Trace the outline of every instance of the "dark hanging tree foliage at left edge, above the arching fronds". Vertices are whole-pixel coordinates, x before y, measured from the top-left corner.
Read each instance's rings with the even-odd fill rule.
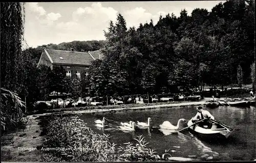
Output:
[[[24,90],[23,3],[1,3],[1,87],[15,93]]]

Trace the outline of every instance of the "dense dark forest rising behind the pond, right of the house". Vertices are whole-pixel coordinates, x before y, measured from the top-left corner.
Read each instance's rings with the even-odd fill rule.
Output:
[[[160,16],[156,25],[126,28],[121,14],[105,31],[105,59],[90,83],[98,94],[189,91],[203,85],[251,84],[254,1],[226,1],[211,11]]]

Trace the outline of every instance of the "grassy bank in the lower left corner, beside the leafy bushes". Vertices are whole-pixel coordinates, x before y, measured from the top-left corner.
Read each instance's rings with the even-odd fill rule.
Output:
[[[28,117],[27,127],[24,130],[5,133],[1,137],[1,161],[32,162],[41,161],[41,151],[44,136],[41,135],[40,120],[38,117]],[[37,150],[19,150],[18,148],[36,148]]]

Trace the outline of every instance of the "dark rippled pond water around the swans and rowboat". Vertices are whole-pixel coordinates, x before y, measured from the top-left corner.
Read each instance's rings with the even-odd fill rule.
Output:
[[[164,121],[177,125],[180,118],[186,122],[181,123],[180,128],[186,127],[186,123],[195,116],[196,106],[180,106],[171,108],[158,108],[154,110],[136,110],[116,112],[114,114],[83,114],[81,119],[98,133],[111,135],[111,141],[116,144],[133,142],[134,138],[143,135],[149,143],[147,147],[154,148],[161,154],[166,149],[176,157],[191,157],[196,160],[254,160],[255,159],[255,107],[231,107],[219,106],[218,108],[205,108],[216,120],[240,130],[233,132],[225,142],[207,142],[200,140],[188,130],[182,133],[164,134],[158,129],[140,129],[135,131],[123,131],[120,122],[147,122],[152,119],[151,126],[159,126]],[[95,126],[94,120],[105,117],[104,130]]]

